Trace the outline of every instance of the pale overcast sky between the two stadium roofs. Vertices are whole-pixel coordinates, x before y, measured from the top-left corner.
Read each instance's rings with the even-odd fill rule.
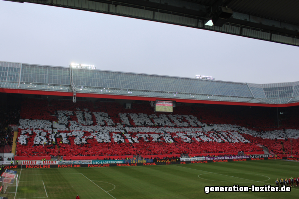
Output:
[[[0,0],[0,61],[216,80],[299,81],[299,47],[68,8]]]

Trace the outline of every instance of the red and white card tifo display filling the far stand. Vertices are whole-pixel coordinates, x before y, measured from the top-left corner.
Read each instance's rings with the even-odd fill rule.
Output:
[[[164,103],[164,102],[163,102]],[[156,104],[157,105],[157,104]],[[172,106],[171,106],[172,107]],[[206,109],[206,110],[205,110]],[[25,100],[21,106],[17,156],[121,156],[144,158],[199,156],[205,153],[237,155],[260,154],[262,144],[270,152],[298,153],[298,125],[265,128],[270,123],[249,115],[235,119],[234,110],[220,117],[225,109],[177,106],[173,113],[153,112],[148,104],[133,104],[125,109],[112,102]],[[258,117],[264,117],[261,112]],[[256,128],[250,124],[254,122]],[[271,126],[271,125],[269,125]]]

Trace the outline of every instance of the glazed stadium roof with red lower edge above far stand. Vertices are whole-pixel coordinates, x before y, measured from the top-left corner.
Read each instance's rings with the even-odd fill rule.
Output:
[[[236,83],[0,62],[0,92],[255,106],[299,104],[299,81]]]

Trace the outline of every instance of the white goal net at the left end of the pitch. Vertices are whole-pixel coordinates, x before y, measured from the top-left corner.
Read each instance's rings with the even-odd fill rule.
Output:
[[[19,185],[19,174],[3,172],[1,176],[4,193],[15,193]]]

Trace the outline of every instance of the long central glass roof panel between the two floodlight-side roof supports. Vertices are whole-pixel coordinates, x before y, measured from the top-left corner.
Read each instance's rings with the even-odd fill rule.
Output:
[[[122,81],[119,81],[119,79],[122,79]],[[73,81],[76,86],[93,85],[99,88],[108,87],[113,89],[252,97],[245,83],[199,80],[195,78],[177,78],[74,68]]]

